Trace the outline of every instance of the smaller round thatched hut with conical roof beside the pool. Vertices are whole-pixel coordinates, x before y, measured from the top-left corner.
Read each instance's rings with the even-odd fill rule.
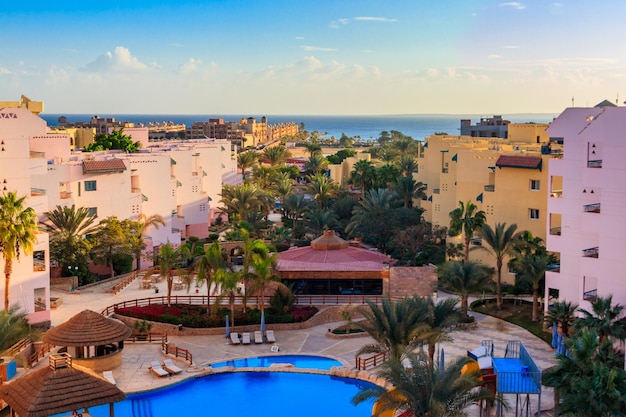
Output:
[[[103,356],[108,351],[98,352],[89,347],[112,345],[114,351],[121,351],[124,340],[132,334],[132,329],[124,323],[109,319],[91,310],[83,310],[68,321],[43,335],[43,341],[55,346],[73,347],[75,359]]]

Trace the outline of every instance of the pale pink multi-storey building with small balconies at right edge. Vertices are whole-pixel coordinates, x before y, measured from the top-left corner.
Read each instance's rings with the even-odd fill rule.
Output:
[[[563,159],[549,162],[546,243],[561,262],[546,273],[546,299],[589,309],[612,294],[626,305],[626,107],[568,108],[548,133]]]

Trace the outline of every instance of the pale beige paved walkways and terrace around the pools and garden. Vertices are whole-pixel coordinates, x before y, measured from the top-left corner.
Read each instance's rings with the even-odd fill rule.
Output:
[[[96,312],[102,311],[105,307],[123,300],[145,298],[154,296],[153,290],[139,288],[139,283],[134,282],[117,295],[106,293],[106,289],[113,284],[100,284],[86,289],[81,289],[79,293],[71,294],[60,289],[52,289],[52,296],[63,298],[63,304],[56,310],[52,310],[52,324],[58,325],[71,318],[80,311],[89,308]],[[159,295],[165,293],[166,284],[158,284]],[[201,289],[201,291],[203,291]],[[173,291],[173,294],[184,295],[186,290]],[[446,297],[440,292],[440,297]],[[475,328],[467,331],[454,332],[451,336],[453,341],[442,344],[445,351],[446,362],[452,361],[460,356],[465,356],[467,350],[473,350],[481,345],[484,339],[493,340],[495,357],[503,357],[506,343],[509,340],[520,340],[529,350],[535,362],[541,369],[553,366],[556,361],[554,352],[549,345],[541,339],[535,337],[519,326],[473,313],[476,317]],[[327,323],[304,330],[277,331],[277,344],[280,346],[280,353],[283,354],[317,354],[329,356],[340,360],[347,367],[354,367],[356,351],[366,343],[373,340],[367,336],[349,339],[334,339],[326,336],[328,329],[338,326],[341,323]],[[270,326],[271,327],[271,326]],[[198,371],[204,369],[204,365],[236,359],[241,357],[251,357],[259,355],[269,355],[270,345],[254,344],[250,345],[230,345],[223,335],[220,336],[185,336],[184,331],[180,336],[170,336],[170,343],[188,349],[193,354],[194,365],[189,366],[185,362],[177,360],[178,366],[185,369],[182,374],[166,378],[158,378],[149,371],[149,364],[152,360],[162,360],[165,358],[160,351],[158,344],[132,344],[126,343],[123,352],[123,365],[113,371],[114,377],[120,389],[126,392],[136,392],[158,388],[173,382],[198,375]],[[375,370],[373,371],[375,372]],[[537,396],[531,396],[531,408],[536,411]],[[515,405],[515,398],[509,398],[512,406]],[[550,408],[552,405],[552,392],[548,388],[542,391],[542,409]],[[513,409],[513,412],[515,409]]]

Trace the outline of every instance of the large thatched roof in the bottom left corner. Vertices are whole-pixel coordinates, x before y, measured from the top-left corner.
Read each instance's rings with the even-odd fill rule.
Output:
[[[0,386],[0,399],[11,407],[11,415],[45,417],[68,411],[109,404],[126,398],[115,385],[72,367],[68,354],[50,355],[50,366]]]

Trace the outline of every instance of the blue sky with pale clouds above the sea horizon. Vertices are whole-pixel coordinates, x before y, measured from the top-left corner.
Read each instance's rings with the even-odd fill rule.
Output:
[[[626,100],[623,0],[7,1],[46,113],[512,114]]]

